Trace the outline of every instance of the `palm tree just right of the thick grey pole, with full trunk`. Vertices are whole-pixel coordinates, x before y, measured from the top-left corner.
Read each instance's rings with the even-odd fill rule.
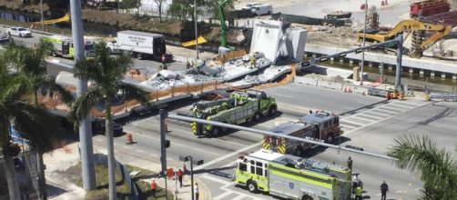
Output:
[[[117,97],[119,91],[126,95],[127,100],[133,98],[141,102],[147,102],[146,92],[134,85],[127,85],[121,82],[131,64],[130,56],[110,56],[107,44],[100,43],[94,46],[94,58],[86,59],[76,64],[74,69],[76,77],[85,78],[93,83],[85,94],[76,99],[70,108],[69,116],[75,122],[75,125],[79,125],[79,122],[87,117],[94,106],[99,103],[105,105],[109,199],[111,200],[116,199],[111,102]]]

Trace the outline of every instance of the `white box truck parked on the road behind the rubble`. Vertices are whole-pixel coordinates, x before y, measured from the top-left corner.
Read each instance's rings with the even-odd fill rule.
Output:
[[[167,54],[165,35],[138,31],[119,31],[117,39],[108,43],[112,53],[130,52],[138,59],[152,58],[169,62],[173,55]]]

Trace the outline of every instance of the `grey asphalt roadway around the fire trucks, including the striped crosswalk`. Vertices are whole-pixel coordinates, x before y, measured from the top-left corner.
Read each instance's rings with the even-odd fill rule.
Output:
[[[3,30],[2,30],[3,31]],[[36,37],[17,39],[33,44]],[[59,62],[71,62],[56,58]],[[137,61],[138,67],[150,67],[154,70],[159,65],[153,61]],[[177,69],[184,67],[177,63]],[[52,68],[52,67],[51,67]],[[157,67],[156,67],[157,68]],[[52,68],[53,72],[60,69]],[[435,103],[425,105],[422,102],[383,102],[384,99],[372,96],[345,94],[340,91],[323,89],[307,85],[284,85],[278,88],[266,89],[274,96],[279,105],[279,115],[269,117],[251,127],[268,130],[273,125],[297,119],[310,109],[323,109],[341,115],[341,125],[345,134],[342,145],[355,145],[365,151],[384,154],[393,138],[400,135],[429,135],[440,146],[453,151],[455,155],[455,128],[453,122],[457,107],[453,103]],[[181,101],[168,107],[170,112],[187,110],[191,102]],[[374,105],[373,105],[374,104]],[[370,106],[371,105],[371,106]],[[366,107],[369,106],[369,107]],[[359,109],[364,107],[362,109]],[[354,111],[355,110],[355,111]],[[347,113],[349,111],[354,111]],[[127,133],[134,134],[135,145],[125,145],[124,137],[115,139],[117,155],[132,155],[159,163],[159,133],[157,113],[147,118],[137,120],[124,126]],[[249,194],[246,190],[235,187],[228,178],[220,175],[208,175],[217,171],[233,175],[233,165],[237,157],[249,154],[259,149],[262,135],[237,131],[216,138],[197,138],[190,133],[188,123],[168,120],[168,139],[171,147],[168,151],[168,165],[182,166],[178,161],[179,155],[192,155],[196,159],[204,159],[204,165],[197,166],[197,173],[211,190],[214,199],[271,199],[269,195]],[[102,135],[94,137],[95,145],[105,145]],[[374,158],[367,155],[356,155],[338,152],[333,149],[317,149],[309,154],[310,157],[325,162],[335,162],[345,165],[348,156],[354,160],[354,171],[361,173],[365,193],[368,198],[378,198],[379,185],[386,180],[391,187],[389,198],[414,199],[421,183],[409,172],[401,171],[392,165],[391,161]]]

